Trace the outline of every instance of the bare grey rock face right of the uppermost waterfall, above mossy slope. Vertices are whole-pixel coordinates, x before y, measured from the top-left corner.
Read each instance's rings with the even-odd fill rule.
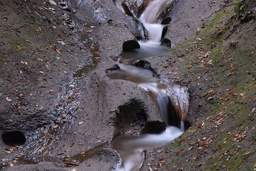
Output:
[[[193,0],[175,1],[172,9],[167,13],[172,21],[165,37],[170,39],[173,45],[177,45],[195,36],[203,21],[207,20],[214,11],[218,11],[222,5],[224,5],[223,1],[215,3],[201,1],[196,5]]]

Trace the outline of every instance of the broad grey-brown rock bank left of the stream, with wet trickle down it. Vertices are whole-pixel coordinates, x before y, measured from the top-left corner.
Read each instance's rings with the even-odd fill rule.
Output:
[[[110,80],[104,73],[115,65],[111,59],[123,53],[123,42],[135,40],[114,3],[71,1],[67,3],[69,10],[61,5],[54,15],[40,7],[53,6],[42,1],[0,5],[1,15],[7,16],[0,19],[0,28],[9,30],[0,35],[0,134],[7,140],[0,141],[0,156],[6,158],[1,160],[2,168],[20,154],[29,159],[36,156],[38,161],[44,161],[42,155],[62,160],[112,140],[120,133],[113,111],[132,99],[143,103],[147,121],[161,119],[146,92],[134,83]],[[26,14],[28,9],[37,11],[31,14],[33,18]],[[11,131],[22,135],[18,141],[13,141],[17,134],[9,134]],[[20,145],[11,148],[11,154],[4,150],[9,138],[13,145]],[[106,159],[92,157],[90,161],[97,164],[101,158]],[[115,162],[106,160],[100,169],[110,169]],[[40,170],[42,165],[24,165],[24,170],[37,166]],[[47,167],[45,164],[42,170]],[[90,167],[86,165],[86,169]]]

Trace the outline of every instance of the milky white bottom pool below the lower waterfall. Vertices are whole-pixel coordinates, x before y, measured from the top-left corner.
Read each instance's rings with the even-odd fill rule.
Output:
[[[183,131],[177,127],[166,127],[161,134],[148,134],[140,136],[124,135],[113,141],[114,149],[121,156],[123,166],[121,171],[139,171],[145,158],[145,150],[179,137]]]

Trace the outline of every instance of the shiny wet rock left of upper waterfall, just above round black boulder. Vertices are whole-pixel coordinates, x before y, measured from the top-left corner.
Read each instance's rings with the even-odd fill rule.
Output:
[[[137,38],[137,40],[147,40],[148,39],[148,31],[146,30],[143,23],[139,20],[131,17],[127,17],[127,28],[131,31],[131,33]]]

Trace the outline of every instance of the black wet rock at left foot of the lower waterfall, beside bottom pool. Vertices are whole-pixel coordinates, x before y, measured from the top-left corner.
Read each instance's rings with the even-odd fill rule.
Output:
[[[147,122],[141,130],[141,134],[160,134],[166,129],[166,124],[160,121]]]

